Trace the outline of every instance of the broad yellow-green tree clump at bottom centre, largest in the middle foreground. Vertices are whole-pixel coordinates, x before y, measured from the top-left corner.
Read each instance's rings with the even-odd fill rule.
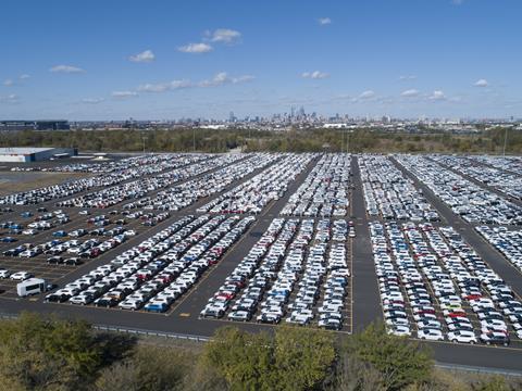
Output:
[[[225,327],[206,346],[200,365],[215,368],[231,390],[310,390],[334,358],[333,335],[323,330],[282,326],[271,337]]]

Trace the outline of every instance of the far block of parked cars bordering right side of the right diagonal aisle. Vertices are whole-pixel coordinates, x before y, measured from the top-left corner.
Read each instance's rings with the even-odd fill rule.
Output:
[[[522,224],[520,206],[472,184],[435,161],[420,155],[397,155],[396,159],[465,222]]]

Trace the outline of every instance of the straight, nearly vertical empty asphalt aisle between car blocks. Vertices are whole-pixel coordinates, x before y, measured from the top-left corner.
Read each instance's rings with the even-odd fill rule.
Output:
[[[357,231],[352,242],[353,331],[362,330],[372,321],[383,318],[358,159],[359,156],[353,157],[351,162],[355,185],[351,197],[352,218]]]

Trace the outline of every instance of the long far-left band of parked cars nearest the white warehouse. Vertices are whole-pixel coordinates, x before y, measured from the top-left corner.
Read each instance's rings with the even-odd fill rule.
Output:
[[[105,190],[114,185],[130,180],[133,178],[145,178],[153,176],[163,171],[174,169],[183,167],[199,161],[206,161],[211,155],[207,154],[165,154],[161,155],[161,164],[158,164],[157,155],[142,156],[141,165],[132,164],[124,165],[125,168],[101,173],[88,178],[67,180],[59,185],[47,186],[28,191],[8,194],[0,198],[0,205],[2,204],[38,204],[41,202],[63,199],[71,197],[83,191],[87,191],[94,188],[99,190]],[[95,192],[96,193],[96,192]],[[64,204],[64,206],[72,206]]]

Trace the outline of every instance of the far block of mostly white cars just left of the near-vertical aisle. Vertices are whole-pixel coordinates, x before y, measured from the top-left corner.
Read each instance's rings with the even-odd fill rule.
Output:
[[[281,211],[285,216],[344,217],[349,209],[351,159],[348,154],[323,155]]]

